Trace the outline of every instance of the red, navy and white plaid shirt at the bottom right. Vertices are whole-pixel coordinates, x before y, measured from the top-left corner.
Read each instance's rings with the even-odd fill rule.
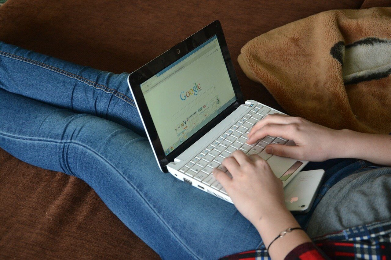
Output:
[[[315,246],[315,244],[316,246]],[[347,228],[293,249],[285,259],[391,259],[391,221]],[[266,249],[225,256],[230,260],[270,259]]]

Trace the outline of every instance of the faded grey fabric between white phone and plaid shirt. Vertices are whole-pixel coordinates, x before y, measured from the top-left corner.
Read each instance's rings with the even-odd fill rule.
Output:
[[[355,173],[331,187],[317,205],[307,234],[319,237],[391,219],[391,167]]]

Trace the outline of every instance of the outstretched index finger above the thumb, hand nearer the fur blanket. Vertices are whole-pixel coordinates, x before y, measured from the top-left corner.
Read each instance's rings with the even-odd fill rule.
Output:
[[[258,129],[249,139],[247,140],[248,144],[253,144],[259,139],[264,138],[266,135],[270,136],[280,136],[285,139],[294,138],[294,127],[291,124],[289,125],[276,125],[269,124],[265,125],[262,128]]]

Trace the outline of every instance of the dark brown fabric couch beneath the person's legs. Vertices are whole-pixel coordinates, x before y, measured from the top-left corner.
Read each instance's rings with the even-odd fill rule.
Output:
[[[131,72],[218,19],[245,98],[279,108],[237,64],[247,41],[317,12],[385,5],[389,0],[8,0],[0,7],[0,41],[97,69]],[[0,258],[11,257],[159,256],[86,183],[0,149]]]

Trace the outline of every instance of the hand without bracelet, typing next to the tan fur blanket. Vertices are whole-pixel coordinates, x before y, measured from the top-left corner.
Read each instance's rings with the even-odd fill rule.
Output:
[[[343,145],[339,130],[311,123],[303,118],[282,114],[267,115],[256,123],[248,134],[248,144],[266,135],[280,136],[295,142],[296,146],[269,144],[266,152],[298,160],[321,162],[335,158],[335,151]],[[338,138],[337,138],[338,137]]]

